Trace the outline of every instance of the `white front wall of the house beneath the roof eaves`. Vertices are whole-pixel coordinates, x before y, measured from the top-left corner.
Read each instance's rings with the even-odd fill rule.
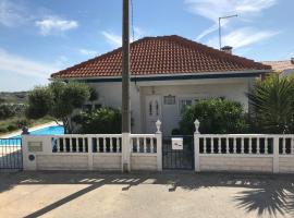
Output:
[[[183,80],[131,83],[131,104],[133,133],[146,133],[146,96],[161,97],[162,130],[164,135],[170,135],[172,129],[177,128],[180,121],[179,99],[185,97],[225,97],[243,104],[248,109],[248,99],[245,93],[255,78],[210,78],[210,80]],[[90,83],[99,94],[99,102],[103,106],[121,108],[121,83]],[[163,96],[175,96],[175,105],[163,104]]]

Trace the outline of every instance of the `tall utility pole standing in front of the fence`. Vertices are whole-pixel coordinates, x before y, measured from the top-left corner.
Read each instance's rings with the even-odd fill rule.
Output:
[[[122,22],[122,171],[130,171],[130,0],[123,0]]]

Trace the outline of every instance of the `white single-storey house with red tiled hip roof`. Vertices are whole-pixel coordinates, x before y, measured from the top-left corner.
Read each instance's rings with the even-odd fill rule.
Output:
[[[225,97],[248,109],[245,95],[253,81],[271,66],[233,56],[180,36],[145,37],[131,44],[133,133],[164,135],[177,128],[181,112],[198,98]],[[121,107],[122,49],[115,49],[51,75],[53,80],[88,83],[99,94],[96,104]]]

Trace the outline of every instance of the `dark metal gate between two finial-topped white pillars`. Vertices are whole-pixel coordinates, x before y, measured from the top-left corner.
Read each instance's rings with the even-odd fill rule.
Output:
[[[194,170],[194,137],[174,136],[183,138],[183,149],[172,149],[172,137],[163,137],[162,168],[169,170]]]

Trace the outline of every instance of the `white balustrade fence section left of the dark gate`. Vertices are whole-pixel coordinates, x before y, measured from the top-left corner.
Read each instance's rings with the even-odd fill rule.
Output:
[[[24,135],[25,170],[162,170],[156,134]]]

